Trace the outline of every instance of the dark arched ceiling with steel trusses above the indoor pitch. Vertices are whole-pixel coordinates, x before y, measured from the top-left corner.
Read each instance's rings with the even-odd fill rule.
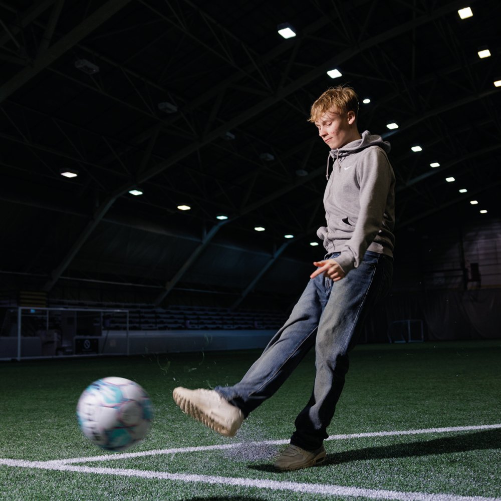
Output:
[[[4,289],[288,292],[322,255],[307,118],[338,84],[392,144],[397,237],[499,216],[500,28],[499,0],[0,0]]]

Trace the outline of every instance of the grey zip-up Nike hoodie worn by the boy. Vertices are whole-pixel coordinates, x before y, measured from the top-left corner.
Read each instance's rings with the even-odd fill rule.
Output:
[[[389,151],[390,143],[366,130],[362,139],[329,153],[327,226],[317,235],[329,254],[341,253],[336,262],[345,273],[360,265],[366,250],[393,256],[395,174],[386,156]]]

